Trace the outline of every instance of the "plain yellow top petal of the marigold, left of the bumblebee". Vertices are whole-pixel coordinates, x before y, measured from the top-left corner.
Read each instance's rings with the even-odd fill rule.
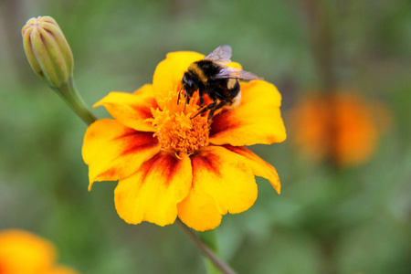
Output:
[[[188,66],[204,58],[204,55],[192,51],[177,51],[167,54],[166,58],[157,65],[153,76],[154,96],[163,109],[163,99],[170,92],[180,89],[181,80]]]

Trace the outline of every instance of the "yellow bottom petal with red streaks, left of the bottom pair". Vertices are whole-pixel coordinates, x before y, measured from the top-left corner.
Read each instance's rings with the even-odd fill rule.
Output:
[[[173,224],[177,204],[188,195],[192,178],[187,155],[177,159],[171,153],[157,153],[136,174],[119,182],[114,191],[117,213],[129,224]]]

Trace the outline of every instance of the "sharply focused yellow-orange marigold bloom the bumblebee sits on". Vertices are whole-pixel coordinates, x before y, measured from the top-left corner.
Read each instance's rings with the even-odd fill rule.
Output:
[[[254,175],[279,192],[274,167],[244,145],[286,139],[280,94],[264,80],[242,82],[241,104],[208,123],[194,119],[195,95],[177,104],[181,79],[203,55],[174,52],[157,66],[153,85],[133,94],[111,92],[95,104],[112,119],[95,121],[82,148],[90,186],[120,180],[114,191],[117,212],[130,224],[173,224],[178,216],[198,231],[217,227],[223,215],[248,210],[257,198]],[[236,64],[236,66],[238,66]]]

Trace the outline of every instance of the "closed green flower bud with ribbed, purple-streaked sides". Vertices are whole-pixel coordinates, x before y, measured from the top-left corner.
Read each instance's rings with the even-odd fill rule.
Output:
[[[31,68],[48,85],[58,88],[73,75],[73,55],[57,22],[50,16],[28,19],[22,29]]]

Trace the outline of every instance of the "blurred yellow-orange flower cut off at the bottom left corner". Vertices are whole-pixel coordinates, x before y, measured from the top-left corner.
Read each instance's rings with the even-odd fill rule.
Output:
[[[0,231],[1,274],[77,274],[56,265],[56,250],[44,238],[19,229]]]

